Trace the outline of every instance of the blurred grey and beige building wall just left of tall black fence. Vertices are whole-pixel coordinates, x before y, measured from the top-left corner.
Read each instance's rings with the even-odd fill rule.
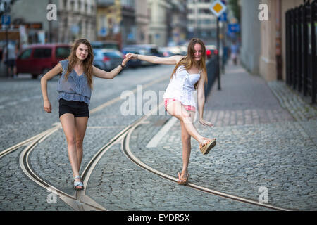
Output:
[[[268,6],[268,20],[259,20],[260,4]],[[267,81],[286,79],[285,13],[302,0],[241,0],[242,49],[247,70]]]

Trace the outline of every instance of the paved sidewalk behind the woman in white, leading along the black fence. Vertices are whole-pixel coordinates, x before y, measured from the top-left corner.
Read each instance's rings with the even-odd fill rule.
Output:
[[[228,65],[206,98],[205,114],[215,126],[297,121],[317,146],[317,105],[311,105],[284,81],[266,82],[241,66]],[[230,113],[229,113],[230,112]],[[210,115],[211,113],[211,115]]]

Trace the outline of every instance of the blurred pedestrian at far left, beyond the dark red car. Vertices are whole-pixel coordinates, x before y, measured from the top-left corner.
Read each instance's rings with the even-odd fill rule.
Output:
[[[8,52],[8,59],[6,58],[6,53]],[[8,67],[8,77],[17,77],[17,70],[16,70],[16,56],[18,54],[18,49],[15,47],[13,41],[8,42],[8,48],[4,48],[4,52],[2,55],[2,62],[6,64]]]

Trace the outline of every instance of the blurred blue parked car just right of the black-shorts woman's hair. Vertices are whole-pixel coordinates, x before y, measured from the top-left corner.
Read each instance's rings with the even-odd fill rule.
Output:
[[[101,70],[110,71],[122,63],[124,56],[115,49],[94,49],[93,65]]]

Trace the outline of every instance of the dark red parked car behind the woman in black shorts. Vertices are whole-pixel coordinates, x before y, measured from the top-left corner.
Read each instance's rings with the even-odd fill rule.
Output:
[[[68,44],[35,44],[18,53],[17,73],[30,73],[36,79],[45,74],[60,61],[70,55]]]

